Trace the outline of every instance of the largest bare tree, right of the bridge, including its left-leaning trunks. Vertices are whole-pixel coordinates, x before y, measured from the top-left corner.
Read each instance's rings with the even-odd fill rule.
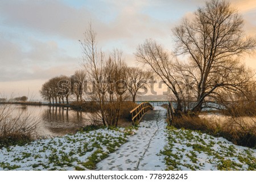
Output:
[[[206,99],[218,100],[223,91],[243,92],[251,82],[254,74],[240,58],[250,53],[256,42],[245,36],[243,19],[229,2],[207,1],[192,20],[184,19],[173,33],[175,55],[146,40],[135,56],[167,84],[178,111],[201,111]],[[180,55],[188,60],[178,61]]]

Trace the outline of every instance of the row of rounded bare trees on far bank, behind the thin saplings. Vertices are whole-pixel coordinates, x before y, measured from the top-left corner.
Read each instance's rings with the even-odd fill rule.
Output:
[[[120,58],[122,57],[122,53],[119,50],[114,50],[112,56],[105,62],[105,65],[101,65],[104,70],[104,74],[100,75],[101,81],[104,82],[102,83],[101,94],[106,95],[106,92],[109,94],[113,89],[117,88],[114,92],[118,94],[126,92],[126,96],[124,96],[123,100],[132,99],[135,102],[139,89],[147,87],[147,81],[151,74],[148,71],[143,71],[139,67],[128,67],[122,59],[118,58],[119,60],[113,61],[113,59],[115,59],[113,57],[114,54],[118,54]],[[114,73],[115,69],[120,70],[118,73]],[[97,82],[96,79],[90,77],[88,70],[76,70],[75,74],[70,78],[65,75],[60,75],[49,79],[43,84],[40,94],[50,104],[69,103],[70,100],[77,102],[85,100],[91,101],[95,100],[94,95],[97,92],[95,91],[96,85],[93,87],[93,81],[95,81],[94,83]],[[123,82],[125,82],[125,84],[123,84]],[[118,90],[118,84],[122,84],[123,86],[121,87],[123,88]],[[106,91],[104,91],[103,85],[107,88]],[[61,92],[63,88],[66,89]]]

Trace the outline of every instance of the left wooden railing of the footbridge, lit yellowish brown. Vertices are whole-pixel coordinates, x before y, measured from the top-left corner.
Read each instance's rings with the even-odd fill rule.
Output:
[[[141,103],[133,110],[131,110],[131,121],[133,122],[133,124],[135,123],[135,121],[139,122],[144,114],[152,109],[153,107],[150,103]]]

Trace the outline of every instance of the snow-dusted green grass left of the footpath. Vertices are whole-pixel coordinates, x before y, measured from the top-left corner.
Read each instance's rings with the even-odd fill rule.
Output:
[[[126,142],[130,129],[98,129],[0,149],[0,170],[93,170]]]

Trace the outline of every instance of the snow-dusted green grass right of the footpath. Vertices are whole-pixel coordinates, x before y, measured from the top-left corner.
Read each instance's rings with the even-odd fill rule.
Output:
[[[168,127],[166,170],[256,170],[256,150],[224,138]]]

